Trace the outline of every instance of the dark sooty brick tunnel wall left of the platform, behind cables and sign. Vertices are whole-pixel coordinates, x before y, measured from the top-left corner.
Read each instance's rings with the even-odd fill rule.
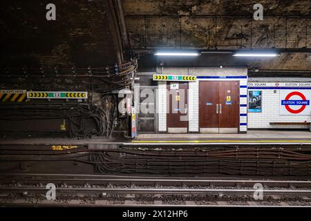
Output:
[[[48,3],[56,6],[56,21],[46,19]],[[0,97],[1,90],[87,91],[89,97],[86,102],[32,99],[18,104],[10,99],[0,100],[1,136],[45,132],[53,137],[54,133],[62,136],[66,132],[70,137],[75,137],[73,133],[84,137],[97,135],[97,131],[115,124],[117,113],[112,106],[117,102],[113,96],[96,104],[91,102],[115,90],[110,83],[113,79],[88,77],[87,69],[93,68],[93,75],[105,75],[105,67],[113,66],[122,57],[120,46],[115,44],[113,16],[109,0],[1,1]],[[100,67],[103,68],[96,69]],[[76,74],[86,77],[73,76]],[[4,97],[6,94],[2,93]],[[60,111],[62,108],[64,111]],[[95,124],[95,118],[88,117],[99,113],[98,108],[108,110],[108,116],[101,119],[102,129]],[[78,116],[70,123],[69,115]],[[86,131],[81,128],[82,115]],[[77,125],[70,128],[70,124]]]

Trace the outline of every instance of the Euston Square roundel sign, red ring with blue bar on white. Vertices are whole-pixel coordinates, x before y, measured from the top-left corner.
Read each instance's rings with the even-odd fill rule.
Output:
[[[310,115],[311,90],[280,90],[280,115]]]

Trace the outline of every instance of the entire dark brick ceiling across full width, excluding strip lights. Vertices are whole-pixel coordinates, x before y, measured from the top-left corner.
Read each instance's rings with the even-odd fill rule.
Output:
[[[47,3],[1,1],[0,66],[111,66],[122,60],[122,50],[155,48],[311,49],[310,0],[55,0],[57,21],[46,21]],[[263,4],[263,21],[252,19],[254,3]],[[140,66],[154,68],[164,62],[311,73],[309,55],[283,53],[273,59],[201,55],[187,62],[149,55],[140,59]]]

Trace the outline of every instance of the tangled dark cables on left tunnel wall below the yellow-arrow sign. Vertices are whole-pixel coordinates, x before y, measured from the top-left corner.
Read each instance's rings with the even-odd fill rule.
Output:
[[[115,95],[105,95],[100,106],[63,103],[6,105],[0,106],[0,119],[10,121],[67,119],[70,137],[110,137],[117,122],[117,102]]]

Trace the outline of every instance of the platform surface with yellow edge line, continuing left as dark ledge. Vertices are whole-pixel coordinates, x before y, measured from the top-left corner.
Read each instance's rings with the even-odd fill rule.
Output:
[[[261,131],[249,130],[247,133],[238,134],[139,134],[135,140],[119,139],[109,140],[102,137],[90,139],[69,138],[1,138],[0,144],[17,145],[207,145],[207,144],[309,144],[311,145],[310,131]]]

